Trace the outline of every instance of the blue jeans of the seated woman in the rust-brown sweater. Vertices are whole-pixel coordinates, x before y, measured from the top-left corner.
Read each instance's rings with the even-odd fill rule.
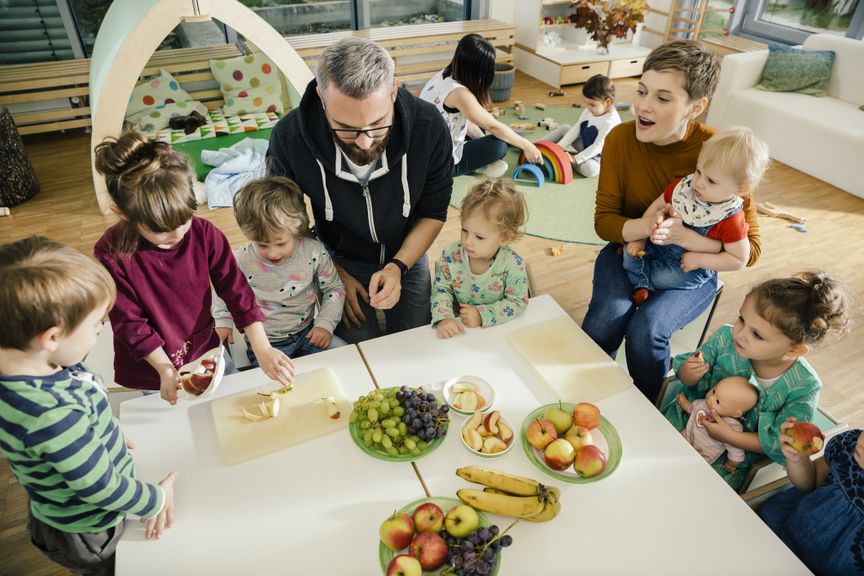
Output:
[[[594,286],[582,329],[612,358],[625,340],[633,383],[652,402],[669,371],[669,338],[707,308],[716,276],[693,290],[660,290],[638,308],[620,244],[607,244],[594,262]]]

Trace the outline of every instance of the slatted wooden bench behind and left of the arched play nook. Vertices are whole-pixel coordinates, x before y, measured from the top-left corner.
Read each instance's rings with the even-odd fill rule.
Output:
[[[164,68],[193,99],[214,110],[224,102],[209,61],[240,55],[234,44],[163,50],[153,55],[141,78]],[[89,81],[88,58],[0,66],[0,105],[10,107],[22,135],[88,127]]]

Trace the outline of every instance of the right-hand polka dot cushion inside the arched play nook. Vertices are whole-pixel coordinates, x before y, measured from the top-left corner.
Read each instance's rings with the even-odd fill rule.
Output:
[[[252,112],[282,114],[282,78],[273,62],[257,52],[228,60],[210,60],[219,82],[226,116]]]

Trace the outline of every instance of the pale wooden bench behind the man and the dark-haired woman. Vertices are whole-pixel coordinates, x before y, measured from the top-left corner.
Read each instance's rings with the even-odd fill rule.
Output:
[[[516,28],[498,20],[465,20],[344,30],[288,36],[286,40],[312,69],[324,49],[333,42],[348,36],[374,40],[390,51],[396,62],[396,79],[405,83],[427,80],[434,76],[450,63],[459,40],[472,33],[480,34],[495,46],[496,62],[513,62],[511,47],[515,42]],[[300,90],[302,91],[302,87]]]

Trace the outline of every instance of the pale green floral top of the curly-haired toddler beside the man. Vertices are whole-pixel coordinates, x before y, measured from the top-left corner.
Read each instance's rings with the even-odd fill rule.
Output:
[[[518,318],[528,305],[525,261],[509,246],[501,246],[489,270],[473,274],[462,244],[450,244],[435,264],[432,326],[458,318],[460,304],[475,306],[483,327]]]

